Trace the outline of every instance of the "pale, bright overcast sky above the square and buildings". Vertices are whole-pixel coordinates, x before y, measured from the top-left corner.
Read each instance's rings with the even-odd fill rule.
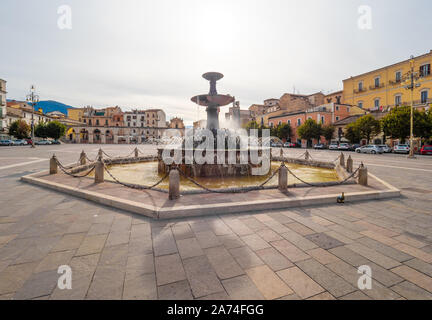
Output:
[[[223,73],[218,92],[244,109],[294,88],[341,90],[428,53],[431,11],[430,0],[1,0],[0,78],[8,99],[34,84],[41,100],[162,108],[190,125],[205,117],[190,100],[208,92],[205,72]]]

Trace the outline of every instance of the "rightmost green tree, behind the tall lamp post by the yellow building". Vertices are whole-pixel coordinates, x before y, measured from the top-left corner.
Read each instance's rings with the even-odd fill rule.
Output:
[[[399,139],[402,143],[410,136],[411,107],[396,107],[381,119],[381,126],[386,136]],[[416,137],[429,139],[432,135],[431,112],[414,110],[413,133]]]

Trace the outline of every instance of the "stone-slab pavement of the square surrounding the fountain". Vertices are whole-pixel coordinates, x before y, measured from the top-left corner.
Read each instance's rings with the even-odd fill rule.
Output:
[[[432,299],[432,158],[352,154],[400,199],[171,221],[19,181],[82,149],[98,146],[0,148],[1,299]],[[57,287],[60,265],[71,290]],[[358,288],[361,265],[370,290]]]

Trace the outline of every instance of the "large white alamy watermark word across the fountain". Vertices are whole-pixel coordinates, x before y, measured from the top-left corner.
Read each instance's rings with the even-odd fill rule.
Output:
[[[249,130],[249,134],[245,129],[186,129],[181,147],[179,139],[175,139],[180,138],[178,130],[166,130],[164,135],[173,141],[162,151],[162,160],[166,165],[250,164],[252,175],[262,176],[269,172],[269,129],[261,130],[261,138],[256,129]]]

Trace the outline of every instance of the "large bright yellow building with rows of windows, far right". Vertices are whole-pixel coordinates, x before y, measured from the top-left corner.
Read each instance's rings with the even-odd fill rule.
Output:
[[[404,87],[409,76],[411,59],[373,70],[343,81],[344,103],[359,106],[366,110],[389,110],[395,106],[410,105],[410,90]],[[432,50],[414,57],[414,72],[419,77],[420,87],[414,90],[414,105],[427,108],[432,99]]]

